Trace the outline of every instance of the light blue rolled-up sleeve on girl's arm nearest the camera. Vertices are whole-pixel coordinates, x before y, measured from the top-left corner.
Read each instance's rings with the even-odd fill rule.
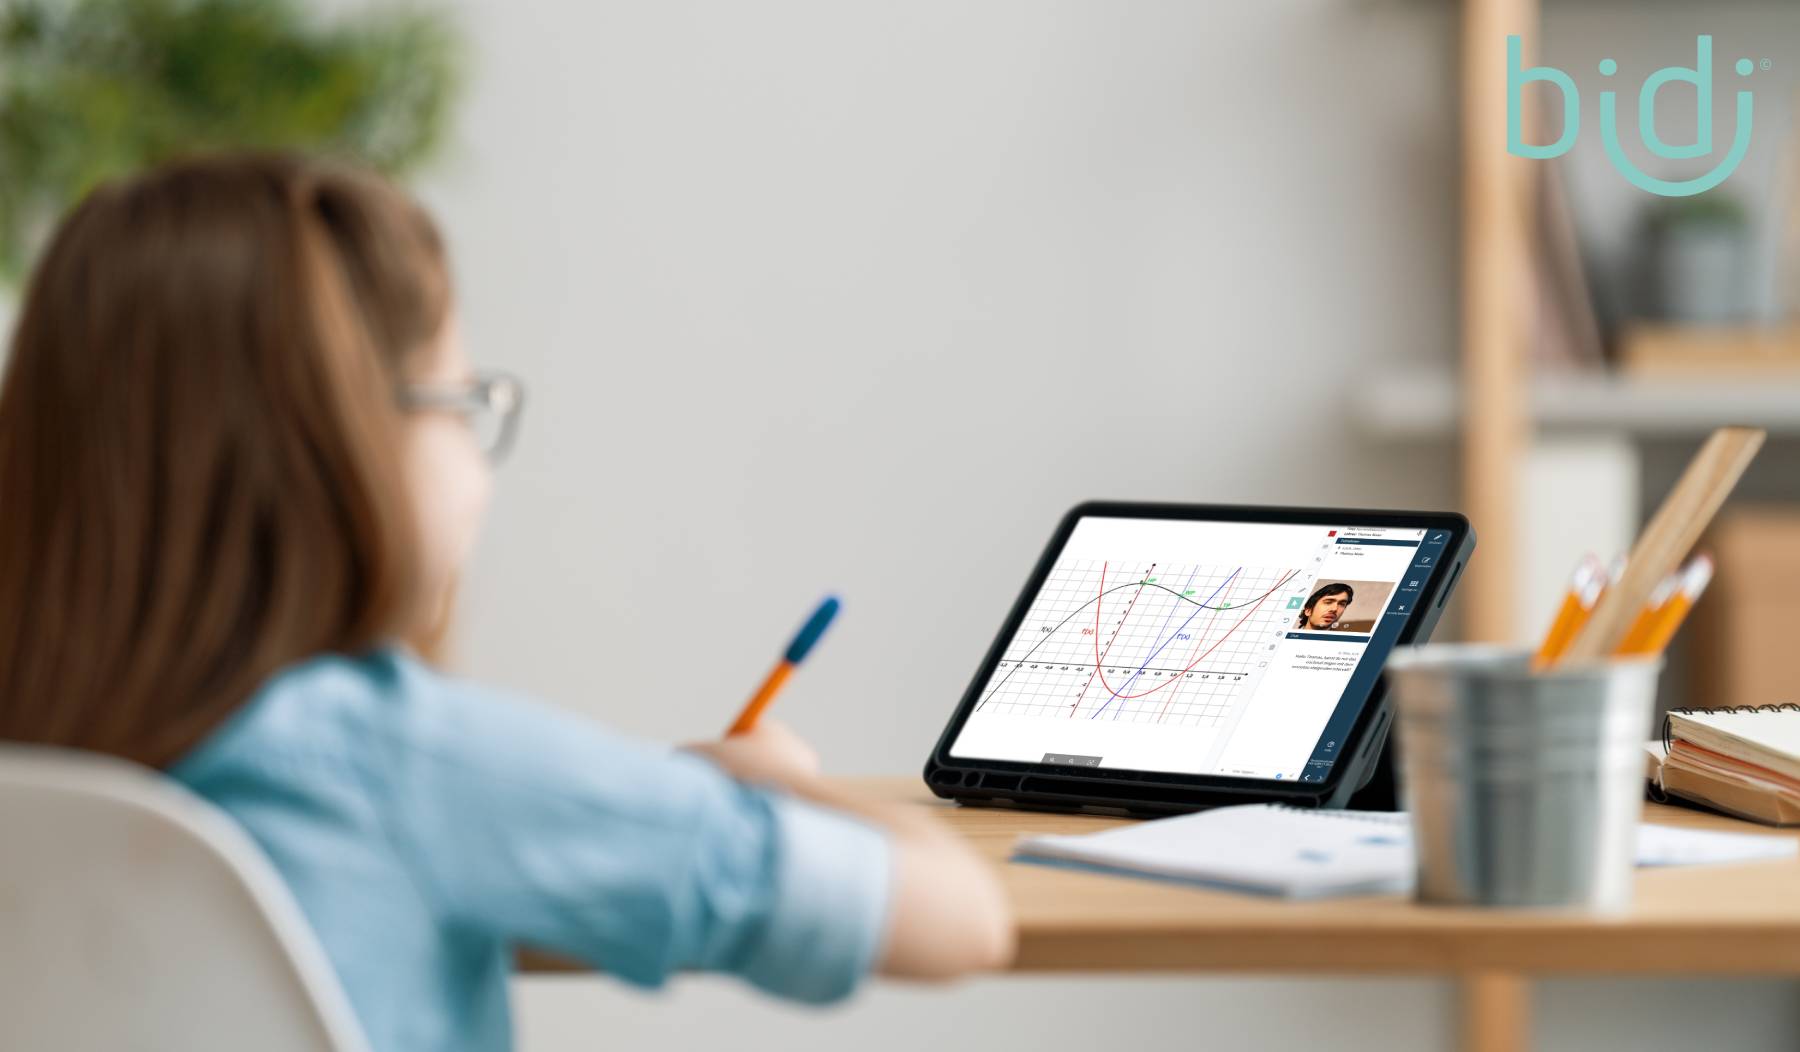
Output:
[[[637,985],[706,969],[812,1003],[848,996],[873,967],[893,893],[880,829],[436,683],[425,726],[392,748],[392,836],[452,926]]]

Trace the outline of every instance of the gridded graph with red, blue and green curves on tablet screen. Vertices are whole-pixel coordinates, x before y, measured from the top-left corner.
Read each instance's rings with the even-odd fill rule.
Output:
[[[976,712],[1213,726],[1292,625],[1305,584],[1283,567],[1058,564]]]

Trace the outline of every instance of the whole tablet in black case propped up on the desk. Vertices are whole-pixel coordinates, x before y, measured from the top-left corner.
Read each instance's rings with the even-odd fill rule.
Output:
[[[1436,512],[1091,503],[1039,558],[925,766],[938,796],[1107,812],[1341,807],[1474,549]]]

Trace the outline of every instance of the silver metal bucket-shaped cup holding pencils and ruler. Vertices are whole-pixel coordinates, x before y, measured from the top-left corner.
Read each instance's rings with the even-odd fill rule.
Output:
[[[1625,910],[1661,667],[1532,674],[1528,654],[1498,647],[1397,652],[1418,901]]]

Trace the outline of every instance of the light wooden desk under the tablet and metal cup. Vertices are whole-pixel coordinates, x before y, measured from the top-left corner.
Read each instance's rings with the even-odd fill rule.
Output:
[[[1633,910],[1606,919],[1417,906],[1399,895],[1285,902],[1006,861],[1021,834],[1127,820],[958,807],[918,778],[846,785],[932,809],[994,861],[1019,919],[1021,973],[1447,975],[1465,980],[1463,1047],[1480,1052],[1528,1045],[1526,976],[1800,975],[1796,859],[1640,870]],[[1784,832],[1645,807],[1667,825]]]

